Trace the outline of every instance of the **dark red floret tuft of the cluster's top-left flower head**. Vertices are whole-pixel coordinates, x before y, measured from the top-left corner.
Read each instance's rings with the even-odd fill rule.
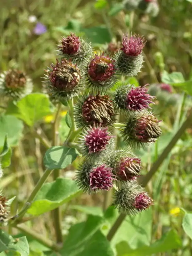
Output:
[[[70,36],[63,37],[60,42],[61,46],[58,48],[62,54],[74,55],[80,50],[80,38],[76,37],[73,33]]]

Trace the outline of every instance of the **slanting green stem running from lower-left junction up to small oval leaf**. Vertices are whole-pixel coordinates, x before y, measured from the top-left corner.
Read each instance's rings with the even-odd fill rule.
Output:
[[[31,195],[28,197],[26,204],[24,206],[24,208],[18,213],[18,218],[15,219],[15,222],[17,222],[18,220],[22,219],[22,217],[24,216],[24,214],[26,213],[27,209],[28,209],[28,205],[30,205],[33,201],[33,199],[35,198],[35,196],[37,195],[37,192],[40,190],[40,188],[42,187],[42,185],[45,183],[47,177],[49,176],[49,174],[52,172],[52,170],[46,170],[43,174],[43,176],[41,177],[41,179],[37,182],[35,188],[33,189],[33,191],[31,192]]]

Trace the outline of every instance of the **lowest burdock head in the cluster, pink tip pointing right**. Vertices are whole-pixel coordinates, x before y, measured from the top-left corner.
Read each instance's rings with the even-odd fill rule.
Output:
[[[119,212],[134,215],[148,209],[153,200],[137,183],[129,183],[126,187],[115,192],[114,205]]]

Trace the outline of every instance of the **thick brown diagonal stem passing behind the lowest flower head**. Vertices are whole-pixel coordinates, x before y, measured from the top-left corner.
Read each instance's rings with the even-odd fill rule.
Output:
[[[185,132],[185,130],[190,127],[192,123],[192,109],[190,110],[190,114],[187,117],[186,121],[181,125],[177,133],[174,135],[172,140],[169,142],[167,147],[164,149],[162,154],[159,156],[157,161],[153,164],[150,171],[142,178],[142,180],[139,180],[139,184],[141,184],[143,187],[147,185],[147,183],[151,180],[155,172],[159,169],[159,166],[162,164],[162,162],[165,160],[165,158],[168,156],[168,154],[171,152],[172,148],[177,143],[178,139],[181,138],[182,134]],[[116,219],[116,222],[111,227],[109,233],[107,234],[107,240],[111,241],[113,236],[115,235],[116,231],[120,227],[121,223],[124,221],[126,217],[126,214],[121,213],[119,217]]]

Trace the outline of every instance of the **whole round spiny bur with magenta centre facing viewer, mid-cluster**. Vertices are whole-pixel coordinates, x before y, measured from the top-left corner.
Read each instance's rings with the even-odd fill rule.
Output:
[[[94,160],[104,157],[113,146],[113,136],[108,127],[89,127],[81,138],[81,149],[85,157],[92,157]]]

